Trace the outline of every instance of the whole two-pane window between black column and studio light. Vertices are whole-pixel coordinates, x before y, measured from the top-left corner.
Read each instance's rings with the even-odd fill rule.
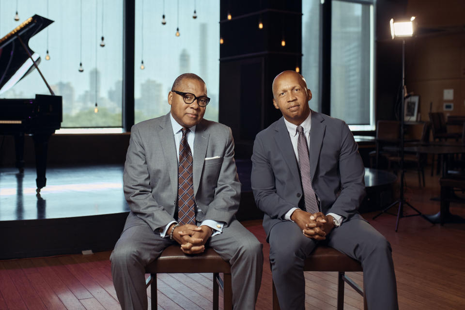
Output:
[[[302,75],[319,110],[322,89],[322,0],[302,1]],[[331,1],[330,114],[352,130],[374,129],[374,14],[372,0]],[[327,103],[323,103],[327,104]]]

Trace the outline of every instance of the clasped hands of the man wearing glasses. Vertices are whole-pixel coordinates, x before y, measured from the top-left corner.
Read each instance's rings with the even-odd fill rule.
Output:
[[[174,224],[172,224],[174,225]],[[168,229],[171,232],[172,226]],[[180,225],[174,229],[173,239],[181,245],[181,250],[186,254],[198,254],[205,250],[205,243],[212,235],[212,229],[208,226],[196,226],[191,224]]]

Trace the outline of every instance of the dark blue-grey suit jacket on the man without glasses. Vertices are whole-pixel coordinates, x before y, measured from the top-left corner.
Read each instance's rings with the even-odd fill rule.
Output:
[[[298,161],[284,119],[255,138],[252,190],[265,215],[263,228],[273,225],[303,202]],[[323,213],[362,218],[358,206],[365,196],[365,169],[349,127],[343,121],[311,111],[310,173]]]

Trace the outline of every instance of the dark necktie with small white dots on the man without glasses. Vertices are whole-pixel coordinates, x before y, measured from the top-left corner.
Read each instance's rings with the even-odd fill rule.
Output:
[[[305,139],[304,128],[302,126],[297,126],[296,131],[299,134],[297,151],[299,154],[300,180],[302,181],[302,188],[304,189],[305,211],[317,213],[319,212],[319,208],[315,191],[311,185],[310,156],[307,139]]]

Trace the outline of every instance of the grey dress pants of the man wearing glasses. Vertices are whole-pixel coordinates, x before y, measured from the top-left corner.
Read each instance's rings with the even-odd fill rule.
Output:
[[[110,256],[111,274],[122,309],[147,309],[145,266],[177,244],[162,238],[139,217],[129,215]],[[205,244],[231,263],[233,309],[255,309],[262,280],[262,244],[237,220]]]

